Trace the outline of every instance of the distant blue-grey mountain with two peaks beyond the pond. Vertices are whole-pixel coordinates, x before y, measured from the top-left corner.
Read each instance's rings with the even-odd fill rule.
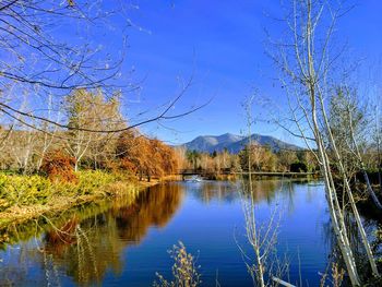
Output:
[[[254,133],[251,135],[251,137],[253,142],[256,142],[263,146],[267,145],[274,152],[278,152],[280,150],[302,150],[300,146],[283,142],[270,135]],[[201,135],[191,142],[182,144],[182,146],[190,151],[205,153],[213,153],[214,151],[223,152],[225,148],[227,148],[228,152],[237,154],[248,144],[248,142],[249,136],[225,133],[222,135]]]

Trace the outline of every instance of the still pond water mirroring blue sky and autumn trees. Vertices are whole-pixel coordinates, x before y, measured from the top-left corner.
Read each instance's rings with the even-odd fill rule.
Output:
[[[289,262],[285,278],[299,284],[301,274],[305,286],[318,286],[331,253],[323,186],[259,180],[254,190],[260,223],[275,208],[282,214],[277,252]],[[32,223],[2,247],[0,285],[152,286],[156,272],[171,279],[167,251],[181,240],[201,265],[203,286],[216,280],[252,286],[238,248],[246,249],[241,201],[235,182],[170,182],[133,201],[118,199]]]

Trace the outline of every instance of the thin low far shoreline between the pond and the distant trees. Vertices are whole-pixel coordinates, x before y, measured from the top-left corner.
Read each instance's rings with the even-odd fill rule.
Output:
[[[208,176],[216,174],[216,171],[211,171],[211,170],[204,170],[204,169],[181,169],[179,170],[178,175],[182,176],[182,178],[187,176]],[[248,171],[242,171],[242,172],[236,172],[229,168],[222,169],[218,175],[235,175],[235,176],[248,176]],[[290,171],[252,171],[252,176],[259,176],[259,177],[308,177],[308,176],[320,176],[320,172],[290,172]]]

